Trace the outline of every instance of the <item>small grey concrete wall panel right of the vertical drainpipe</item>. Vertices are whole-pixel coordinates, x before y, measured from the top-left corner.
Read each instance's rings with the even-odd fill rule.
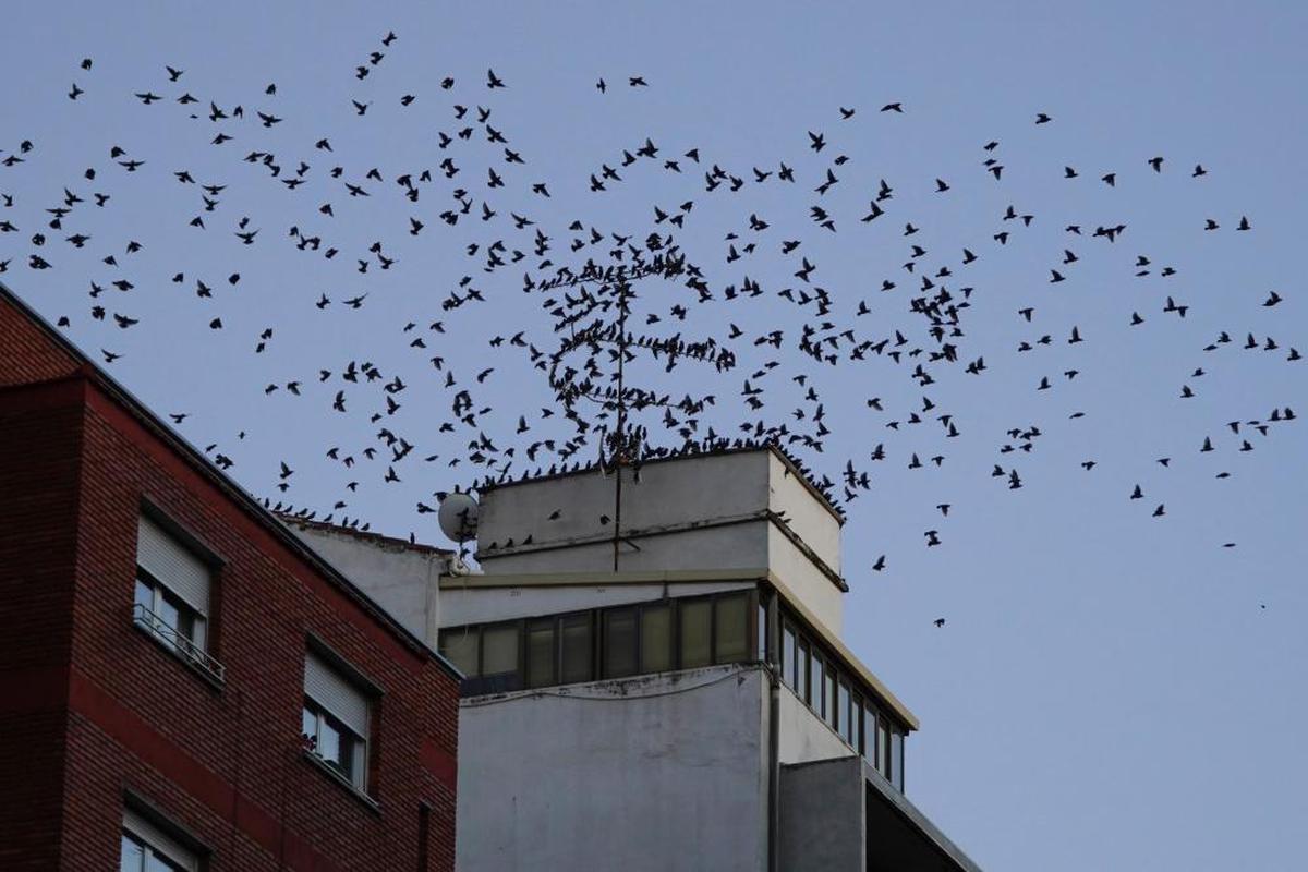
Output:
[[[781,868],[863,872],[863,790],[858,760],[782,766]]]

